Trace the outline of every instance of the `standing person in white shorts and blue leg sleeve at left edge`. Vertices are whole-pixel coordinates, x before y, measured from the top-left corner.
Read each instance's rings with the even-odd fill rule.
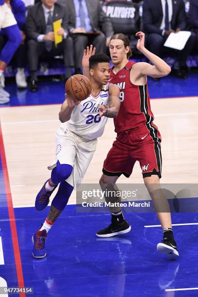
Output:
[[[16,49],[22,41],[16,19],[11,9],[4,3],[4,0],[0,0],[0,31],[8,38],[8,41],[0,53],[0,104],[4,104],[10,101],[10,94],[3,90],[1,77],[5,67],[11,61]]]

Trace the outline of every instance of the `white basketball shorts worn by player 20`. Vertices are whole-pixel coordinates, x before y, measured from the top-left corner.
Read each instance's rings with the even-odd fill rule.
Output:
[[[75,189],[82,182],[97,146],[97,139],[86,140],[75,133],[60,127],[56,133],[56,159],[48,166],[49,170],[60,164],[73,166],[66,180]]]

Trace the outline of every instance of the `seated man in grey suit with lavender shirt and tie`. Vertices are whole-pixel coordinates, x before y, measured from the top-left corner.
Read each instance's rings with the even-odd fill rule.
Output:
[[[111,20],[103,12],[99,0],[67,0],[69,32],[74,42],[75,73],[81,73],[82,49],[92,43],[97,53],[106,51],[114,34]],[[101,31],[99,35],[86,32]]]

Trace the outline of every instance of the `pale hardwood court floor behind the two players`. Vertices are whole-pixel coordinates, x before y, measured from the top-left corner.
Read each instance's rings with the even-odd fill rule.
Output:
[[[49,178],[55,155],[55,132],[59,127],[59,104],[0,108],[11,194],[14,207],[33,206],[35,195]],[[162,135],[163,183],[198,181],[198,97],[153,99],[154,123]],[[103,161],[115,139],[113,120],[98,140],[97,151],[85,174],[84,183],[97,183]],[[132,176],[119,183],[142,183],[136,162]],[[75,204],[75,192],[69,200]]]

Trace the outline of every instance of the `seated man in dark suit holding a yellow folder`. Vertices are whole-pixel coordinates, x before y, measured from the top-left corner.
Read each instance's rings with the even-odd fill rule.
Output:
[[[39,57],[53,57],[64,55],[66,79],[71,76],[73,61],[73,41],[68,36],[68,17],[66,8],[55,3],[56,0],[42,0],[33,5],[26,18],[26,33],[28,36],[28,62],[31,74],[30,91],[38,90],[36,71]],[[58,34],[63,36],[63,41],[55,47],[53,22],[61,19],[61,29]]]

